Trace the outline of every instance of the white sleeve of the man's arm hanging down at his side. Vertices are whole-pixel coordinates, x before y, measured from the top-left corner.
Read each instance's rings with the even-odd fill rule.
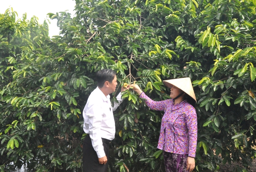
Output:
[[[104,114],[101,106],[99,104],[94,103],[86,112],[89,120],[89,131],[91,144],[93,149],[96,151],[98,158],[102,158],[105,156],[104,147],[101,139],[101,122],[102,115]]]

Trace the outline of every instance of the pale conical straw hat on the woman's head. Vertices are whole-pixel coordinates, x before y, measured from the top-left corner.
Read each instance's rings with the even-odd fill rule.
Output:
[[[163,81],[163,83],[169,88],[172,88],[172,85],[174,85],[177,88],[180,88],[190,97],[192,97],[195,100],[195,102],[197,102],[190,78],[169,79]]]

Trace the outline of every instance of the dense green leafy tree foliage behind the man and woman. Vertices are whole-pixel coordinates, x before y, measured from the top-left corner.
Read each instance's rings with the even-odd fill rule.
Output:
[[[81,171],[81,112],[95,72],[110,68],[120,85],[137,81],[154,100],[169,98],[163,80],[190,77],[195,171],[239,157],[244,168],[234,171],[247,171],[256,157],[255,7],[256,0],[76,0],[74,18],[49,13],[62,35],[52,39],[46,23],[0,14],[0,169]],[[165,171],[156,148],[163,112],[137,96],[125,91],[114,114],[111,172]]]

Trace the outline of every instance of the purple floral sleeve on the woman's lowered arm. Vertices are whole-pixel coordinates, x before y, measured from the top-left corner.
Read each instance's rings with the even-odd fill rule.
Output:
[[[197,112],[189,106],[186,113],[186,123],[189,133],[189,157],[195,157],[197,149]]]

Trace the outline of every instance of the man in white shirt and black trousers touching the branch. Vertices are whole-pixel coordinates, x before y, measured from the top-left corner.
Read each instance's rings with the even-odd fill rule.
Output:
[[[87,136],[83,143],[83,172],[107,172],[108,144],[116,132],[113,111],[122,103],[118,94],[112,108],[110,95],[116,90],[116,72],[100,70],[96,75],[98,87],[91,92],[84,107],[84,132]],[[130,86],[126,87],[129,89]],[[125,88],[121,88],[121,92]]]

